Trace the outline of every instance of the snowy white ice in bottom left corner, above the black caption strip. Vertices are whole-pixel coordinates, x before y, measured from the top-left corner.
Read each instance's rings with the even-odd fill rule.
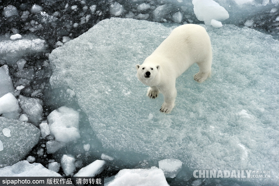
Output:
[[[30,164],[26,160],[0,169],[0,175],[7,177],[61,177],[60,174],[48,170],[40,163]]]

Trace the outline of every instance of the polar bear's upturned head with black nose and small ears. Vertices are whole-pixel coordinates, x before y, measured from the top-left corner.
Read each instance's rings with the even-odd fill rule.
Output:
[[[160,65],[153,64],[136,65],[137,77],[142,83],[150,85],[150,83],[155,79],[155,77],[159,73],[160,68]]]

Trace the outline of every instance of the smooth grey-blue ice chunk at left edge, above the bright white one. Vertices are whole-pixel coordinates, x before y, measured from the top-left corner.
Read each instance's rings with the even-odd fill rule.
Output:
[[[9,69],[7,65],[0,67],[0,98],[7,93],[13,93],[14,86],[9,75]]]

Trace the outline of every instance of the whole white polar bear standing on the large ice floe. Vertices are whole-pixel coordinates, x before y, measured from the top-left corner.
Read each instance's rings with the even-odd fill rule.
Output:
[[[147,96],[164,95],[161,112],[170,113],[175,106],[175,80],[191,65],[199,72],[194,80],[201,83],[211,73],[212,51],[209,35],[200,25],[186,24],[175,28],[142,65],[136,65],[137,78],[148,85]]]

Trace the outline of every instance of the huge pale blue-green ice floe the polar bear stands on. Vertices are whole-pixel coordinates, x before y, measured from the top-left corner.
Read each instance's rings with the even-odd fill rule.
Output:
[[[136,78],[141,64],[177,27],[111,18],[49,56],[52,88],[69,87],[103,147],[130,159],[178,159],[193,170],[279,172],[279,42],[253,29],[203,25],[212,50],[212,78],[193,80],[193,65],[177,79],[176,106],[160,113],[163,96],[146,97]],[[151,117],[152,116],[152,117]]]

